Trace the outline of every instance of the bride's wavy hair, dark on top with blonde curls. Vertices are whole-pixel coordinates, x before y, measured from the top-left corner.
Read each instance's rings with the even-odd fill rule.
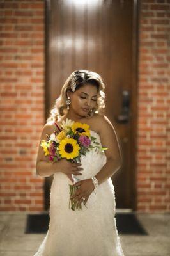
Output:
[[[71,85],[72,85],[72,75],[76,75],[76,86],[75,91],[81,88],[84,84],[93,84],[97,86],[98,97],[97,97],[97,105],[92,111],[89,111],[87,118],[91,118],[95,113],[99,113],[100,115],[104,115],[104,108],[105,108],[105,84],[102,81],[102,77],[93,71],[89,70],[75,70],[68,76],[63,87],[61,88],[61,94],[56,99],[54,106],[49,111],[49,117],[47,118],[47,122],[53,121],[56,122],[61,116],[66,115],[68,109],[66,105],[67,96],[66,93],[70,90],[73,92]]]

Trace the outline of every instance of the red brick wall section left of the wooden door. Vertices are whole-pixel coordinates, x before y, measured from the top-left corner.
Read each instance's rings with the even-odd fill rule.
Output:
[[[44,4],[1,1],[0,211],[41,211],[35,159],[44,123]]]

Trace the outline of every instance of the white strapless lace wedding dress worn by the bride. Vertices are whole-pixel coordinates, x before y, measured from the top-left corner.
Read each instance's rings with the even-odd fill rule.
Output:
[[[101,145],[100,135],[89,130]],[[93,144],[92,142],[92,145]],[[104,152],[91,150],[81,156],[79,179],[96,175],[106,163]],[[69,185],[62,172],[54,174],[50,189],[49,230],[34,256],[124,256],[116,228],[115,196],[111,178],[98,185],[82,210],[69,209]],[[88,208],[86,208],[88,207]]]

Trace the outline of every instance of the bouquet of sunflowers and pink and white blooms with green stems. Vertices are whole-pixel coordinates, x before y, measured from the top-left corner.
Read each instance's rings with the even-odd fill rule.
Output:
[[[53,131],[50,136],[46,134],[48,140],[41,140],[40,144],[43,147],[45,156],[49,156],[49,161],[55,163],[61,158],[66,158],[68,161],[73,163],[81,163],[81,156],[86,155],[92,148],[96,148],[101,152],[108,148],[101,147],[96,141],[96,138],[91,136],[88,124],[82,124],[81,122],[74,122],[71,119],[66,118],[63,120],[61,127],[56,124],[56,131]],[[92,144],[93,141],[93,145]],[[95,145],[94,145],[95,144]],[[76,182],[79,180],[75,175],[73,179]],[[70,197],[75,193],[79,186],[70,185]],[[71,202],[71,209],[82,209],[82,206],[75,204],[70,198],[69,208]]]

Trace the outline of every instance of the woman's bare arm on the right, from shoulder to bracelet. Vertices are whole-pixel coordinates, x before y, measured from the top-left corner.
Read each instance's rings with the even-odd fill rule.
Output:
[[[112,177],[112,175],[120,169],[123,161],[118,137],[113,125],[106,116],[100,116],[98,119],[98,122],[100,123],[98,127],[100,127],[100,140],[102,147],[108,148],[105,150],[107,162],[97,175],[95,175],[98,180],[98,184],[101,184],[102,182],[105,182],[105,180],[109,179],[109,177]]]

